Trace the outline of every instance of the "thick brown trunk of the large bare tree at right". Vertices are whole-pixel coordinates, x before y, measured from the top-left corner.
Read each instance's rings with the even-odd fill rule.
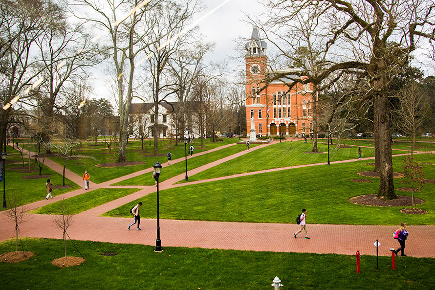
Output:
[[[379,64],[382,66],[382,64]],[[384,70],[385,71],[385,70]],[[390,114],[388,110],[387,94],[387,77],[383,74],[376,82],[375,89],[377,95],[377,110],[375,118],[378,119],[379,129],[379,153],[381,163],[381,178],[379,182],[379,191],[377,197],[383,197],[385,200],[396,199],[394,193],[394,183],[392,176],[392,159],[391,159],[391,134],[390,134]]]

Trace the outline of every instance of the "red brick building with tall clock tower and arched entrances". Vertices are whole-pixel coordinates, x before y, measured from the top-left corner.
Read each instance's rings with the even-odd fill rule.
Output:
[[[268,71],[267,43],[261,41],[259,29],[254,27],[251,40],[246,49],[246,132],[249,136],[251,119],[257,134],[284,135],[309,134],[312,122],[311,100],[312,84],[298,83],[290,91],[285,83],[290,79],[282,78],[270,83],[265,89],[261,80]],[[300,68],[288,68],[273,73],[288,73],[291,78],[299,78]],[[302,77],[303,78],[303,77]]]

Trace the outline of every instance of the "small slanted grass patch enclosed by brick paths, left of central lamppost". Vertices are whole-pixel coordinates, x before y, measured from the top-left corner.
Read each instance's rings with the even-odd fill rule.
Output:
[[[129,194],[132,194],[139,189],[136,188],[100,188],[85,192],[81,195],[66,199],[64,201],[56,201],[43,207],[40,207],[32,213],[45,215],[61,214],[61,206],[64,206],[64,211],[67,214],[75,215],[99,205],[114,201]]]

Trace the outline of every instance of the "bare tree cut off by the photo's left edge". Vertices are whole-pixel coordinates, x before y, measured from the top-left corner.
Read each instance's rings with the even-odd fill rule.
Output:
[[[0,2],[0,147],[6,151],[7,124],[22,111],[41,83],[37,41],[44,32],[64,25],[62,9],[50,0]]]

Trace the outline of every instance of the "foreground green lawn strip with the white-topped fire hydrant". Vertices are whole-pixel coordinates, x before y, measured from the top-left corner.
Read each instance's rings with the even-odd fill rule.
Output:
[[[193,237],[194,238],[194,237]],[[435,259],[364,255],[361,273],[355,257],[336,254],[277,253],[165,247],[74,241],[86,258],[80,266],[58,268],[50,261],[62,257],[63,243],[52,239],[23,239],[24,250],[35,256],[17,263],[0,263],[3,289],[272,289],[275,276],[282,289],[419,289],[435,288]],[[0,243],[2,252],[15,250],[14,241]],[[115,253],[116,256],[103,256]],[[67,255],[81,255],[70,241]]]

